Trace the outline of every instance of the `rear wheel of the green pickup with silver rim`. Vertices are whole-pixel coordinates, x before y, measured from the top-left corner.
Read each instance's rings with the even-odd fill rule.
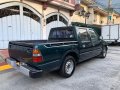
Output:
[[[75,71],[75,59],[72,56],[67,56],[60,68],[59,74],[62,77],[69,78]]]

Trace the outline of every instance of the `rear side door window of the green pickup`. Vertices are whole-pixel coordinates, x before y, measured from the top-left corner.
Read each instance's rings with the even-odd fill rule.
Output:
[[[86,29],[78,29],[78,36],[80,37],[82,43],[90,42],[90,38],[88,37],[88,32]]]

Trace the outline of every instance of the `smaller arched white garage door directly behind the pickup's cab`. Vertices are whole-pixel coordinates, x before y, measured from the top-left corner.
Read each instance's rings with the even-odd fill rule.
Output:
[[[62,14],[53,14],[46,19],[46,39],[48,39],[51,28],[68,25],[68,19]]]

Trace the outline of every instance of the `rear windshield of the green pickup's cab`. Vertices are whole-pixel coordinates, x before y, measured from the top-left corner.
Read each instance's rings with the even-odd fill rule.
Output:
[[[52,29],[49,39],[74,39],[74,31],[72,29]]]

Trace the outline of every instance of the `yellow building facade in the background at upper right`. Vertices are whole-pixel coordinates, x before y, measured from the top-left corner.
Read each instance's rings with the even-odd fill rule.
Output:
[[[80,10],[75,11],[72,17],[73,22],[80,22],[92,25],[107,25],[107,24],[120,24],[120,14],[117,12],[111,13],[111,19],[108,19],[108,11],[107,7],[104,7],[94,0],[81,0]],[[85,17],[82,14],[82,10],[84,13],[89,12],[89,17]],[[86,20],[85,20],[86,19]]]

